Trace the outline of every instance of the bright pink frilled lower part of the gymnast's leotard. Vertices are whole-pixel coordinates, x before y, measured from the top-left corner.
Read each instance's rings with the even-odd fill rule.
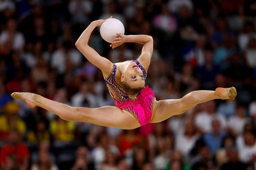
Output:
[[[139,119],[141,126],[149,123],[152,116],[152,103],[155,99],[154,91],[148,86],[141,90],[137,100],[117,101],[114,99],[118,108],[126,111],[133,111]]]

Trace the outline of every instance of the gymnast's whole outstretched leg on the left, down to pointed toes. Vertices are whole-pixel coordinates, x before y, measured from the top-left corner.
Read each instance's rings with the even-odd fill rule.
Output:
[[[71,107],[33,93],[14,92],[12,93],[12,97],[26,101],[29,107],[42,107],[66,121],[88,122],[105,127],[122,129],[140,127],[139,121],[137,121],[131,113],[114,106],[105,106],[95,109]]]

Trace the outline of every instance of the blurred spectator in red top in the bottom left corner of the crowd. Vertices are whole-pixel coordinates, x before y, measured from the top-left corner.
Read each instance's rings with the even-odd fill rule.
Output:
[[[8,163],[8,156],[14,155],[20,165],[20,170],[26,170],[28,168],[29,150],[21,141],[21,136],[17,131],[13,130],[8,134],[7,142],[0,151],[1,165]],[[8,159],[7,162],[6,159]]]

